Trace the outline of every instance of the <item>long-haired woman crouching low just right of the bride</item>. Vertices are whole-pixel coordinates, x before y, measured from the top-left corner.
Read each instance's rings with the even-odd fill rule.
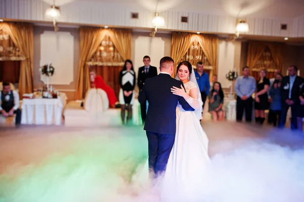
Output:
[[[209,93],[209,112],[212,115],[212,119],[216,122],[222,120],[224,117],[223,103],[224,93],[221,89],[221,85],[218,82],[214,82],[213,88]]]

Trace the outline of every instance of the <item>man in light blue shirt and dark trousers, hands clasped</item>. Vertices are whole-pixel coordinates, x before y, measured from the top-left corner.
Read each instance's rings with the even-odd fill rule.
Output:
[[[252,119],[252,94],[255,92],[256,83],[252,76],[249,76],[249,67],[243,67],[243,76],[237,78],[235,92],[237,94],[237,122],[242,122],[245,109],[246,122]]]

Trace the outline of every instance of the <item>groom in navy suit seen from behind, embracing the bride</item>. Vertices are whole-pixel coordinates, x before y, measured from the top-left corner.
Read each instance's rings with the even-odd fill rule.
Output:
[[[171,92],[173,86],[180,88],[183,83],[171,77],[174,61],[163,57],[160,61],[161,73],[147,78],[138,100],[141,104],[149,102],[144,130],[148,138],[149,171],[158,176],[166,170],[168,158],[173,147],[176,132],[176,106],[179,102],[184,110],[194,109],[185,99]]]

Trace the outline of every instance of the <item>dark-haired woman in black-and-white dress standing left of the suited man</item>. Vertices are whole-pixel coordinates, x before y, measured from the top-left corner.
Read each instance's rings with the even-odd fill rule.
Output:
[[[134,100],[135,72],[131,60],[126,60],[123,70],[119,74],[119,102],[121,104],[122,122],[125,124],[125,113],[128,110],[127,121],[132,119],[132,104]]]

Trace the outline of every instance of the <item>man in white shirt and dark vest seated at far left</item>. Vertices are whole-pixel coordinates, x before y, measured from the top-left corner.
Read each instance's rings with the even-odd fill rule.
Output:
[[[3,91],[0,92],[0,113],[7,117],[16,114],[16,126],[21,123],[21,110],[19,109],[19,95],[11,90],[9,83],[3,83]]]

